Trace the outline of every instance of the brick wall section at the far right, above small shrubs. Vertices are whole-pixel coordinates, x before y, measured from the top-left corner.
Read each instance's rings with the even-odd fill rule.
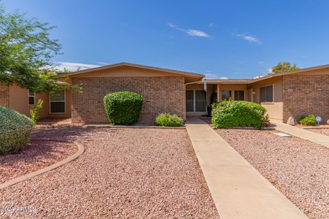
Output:
[[[293,88],[289,92],[289,88]],[[295,121],[302,115],[329,119],[329,75],[287,75],[283,77],[283,121],[289,116]]]

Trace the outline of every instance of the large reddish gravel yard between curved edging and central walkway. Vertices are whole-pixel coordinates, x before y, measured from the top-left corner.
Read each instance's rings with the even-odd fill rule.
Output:
[[[185,129],[55,127],[73,162],[0,191],[0,218],[219,218]]]

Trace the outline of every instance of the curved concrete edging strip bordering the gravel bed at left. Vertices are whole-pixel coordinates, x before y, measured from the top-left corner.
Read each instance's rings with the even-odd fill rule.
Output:
[[[16,183],[20,183],[22,181],[25,181],[27,179],[31,179],[32,177],[36,177],[42,173],[48,172],[50,170],[56,169],[68,162],[73,161],[73,159],[77,159],[82,153],[84,153],[84,146],[78,142],[71,142],[66,140],[54,140],[54,139],[47,139],[47,138],[31,138],[30,140],[42,140],[42,141],[54,141],[54,142],[69,142],[77,145],[78,149],[77,152],[75,152],[73,155],[66,157],[65,159],[62,159],[60,162],[57,162],[56,164],[52,164],[51,166],[47,166],[46,168],[43,168],[41,170],[36,170],[34,172],[29,172],[21,177],[16,177],[14,179],[10,179],[8,181],[5,181],[5,183],[0,184],[0,190],[7,188],[10,185],[14,185]]]

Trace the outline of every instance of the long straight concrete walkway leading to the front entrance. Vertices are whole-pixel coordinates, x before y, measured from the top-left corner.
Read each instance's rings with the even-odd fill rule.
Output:
[[[307,218],[204,121],[186,129],[221,219]]]

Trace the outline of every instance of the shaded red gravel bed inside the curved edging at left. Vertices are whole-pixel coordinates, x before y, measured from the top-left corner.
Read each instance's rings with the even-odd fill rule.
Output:
[[[31,140],[19,153],[0,155],[0,183],[56,164],[76,151],[72,143]]]

